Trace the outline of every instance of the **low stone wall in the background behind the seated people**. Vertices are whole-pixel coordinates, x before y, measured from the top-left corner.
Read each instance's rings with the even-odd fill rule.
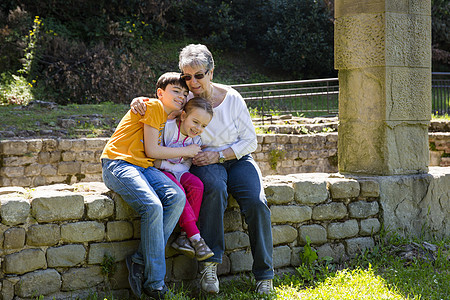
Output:
[[[448,166],[449,133],[430,133],[430,165]],[[337,172],[337,133],[260,134],[253,157],[264,176]],[[0,186],[101,181],[108,138],[0,141]]]

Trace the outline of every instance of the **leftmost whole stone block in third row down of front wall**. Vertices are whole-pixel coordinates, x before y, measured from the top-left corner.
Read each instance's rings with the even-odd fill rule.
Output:
[[[24,274],[47,267],[45,253],[41,249],[25,249],[5,256],[6,274]]]

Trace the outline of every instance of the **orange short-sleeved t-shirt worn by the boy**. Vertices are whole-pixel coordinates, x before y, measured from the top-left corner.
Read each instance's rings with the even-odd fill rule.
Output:
[[[131,110],[126,113],[103,149],[101,158],[122,159],[143,168],[153,166],[155,159],[145,155],[144,124],[158,129],[158,144],[161,145],[167,113],[161,101],[157,99],[146,101],[145,104],[147,111],[144,116],[134,114]]]

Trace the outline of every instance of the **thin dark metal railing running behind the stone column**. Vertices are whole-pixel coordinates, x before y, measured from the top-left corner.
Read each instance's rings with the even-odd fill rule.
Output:
[[[250,111],[262,117],[292,113],[313,116],[338,114],[338,78],[235,84]],[[432,113],[450,113],[450,73],[432,73]]]

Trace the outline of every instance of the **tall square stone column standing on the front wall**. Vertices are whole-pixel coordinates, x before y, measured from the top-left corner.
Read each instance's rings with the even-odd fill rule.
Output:
[[[428,172],[431,0],[335,0],[339,172]]]

